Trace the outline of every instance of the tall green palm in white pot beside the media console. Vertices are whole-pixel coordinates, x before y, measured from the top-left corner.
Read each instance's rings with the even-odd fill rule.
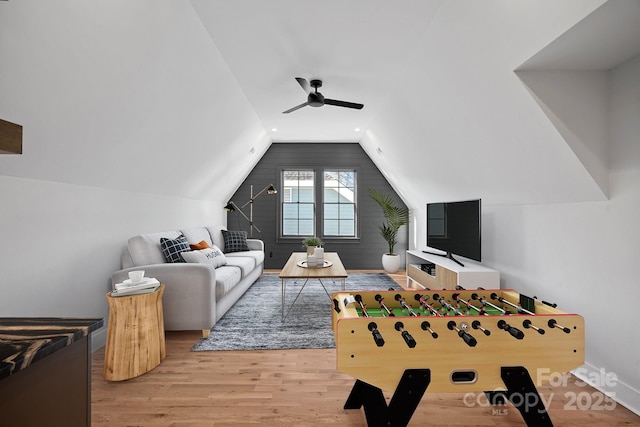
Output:
[[[395,273],[400,269],[400,255],[394,252],[398,243],[398,230],[409,223],[409,209],[396,205],[393,196],[373,188],[367,189],[373,200],[380,205],[385,222],[378,226],[380,234],[389,245],[389,252],[382,255],[382,267],[387,273]]]

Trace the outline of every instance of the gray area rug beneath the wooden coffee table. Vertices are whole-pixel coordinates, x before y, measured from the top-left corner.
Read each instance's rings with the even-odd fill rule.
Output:
[[[323,279],[327,292],[340,290],[340,281]],[[285,312],[304,280],[287,281]],[[346,281],[347,292],[358,290],[400,290],[384,273],[354,273]],[[211,329],[208,338],[191,351],[276,350],[335,348],[331,329],[332,304],[317,280],[309,280],[282,323],[281,281],[277,274],[258,279]]]

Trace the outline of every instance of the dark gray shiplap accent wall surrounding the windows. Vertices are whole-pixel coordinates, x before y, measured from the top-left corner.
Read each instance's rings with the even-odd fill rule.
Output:
[[[253,223],[261,231],[258,233],[254,229],[253,237],[264,241],[265,268],[282,268],[292,252],[304,251],[302,239],[293,242],[278,239],[278,209],[282,195],[279,175],[282,169],[287,168],[355,168],[358,171],[360,238],[357,241],[325,239],[324,247],[326,252],[337,252],[347,269],[382,269],[382,254],[388,251],[388,246],[377,226],[384,222],[384,216],[367,193],[367,188],[396,193],[357,143],[273,143],[234,193],[231,200],[242,206],[250,199],[251,185],[254,194],[271,183],[278,189],[278,194],[268,195],[264,192],[253,203]],[[404,206],[397,194],[396,197],[398,203]],[[249,216],[249,206],[243,212]],[[238,212],[229,212],[227,228],[249,232],[249,222]],[[404,226],[400,229],[399,243],[395,249],[396,253],[402,255],[403,262],[407,242],[408,227]]]

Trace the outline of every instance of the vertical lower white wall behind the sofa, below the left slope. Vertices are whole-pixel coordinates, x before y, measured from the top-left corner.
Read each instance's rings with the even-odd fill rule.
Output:
[[[4,176],[0,200],[3,317],[99,317],[106,324],[110,276],[129,237],[226,220],[220,200]],[[94,348],[104,345],[104,329],[94,334]]]

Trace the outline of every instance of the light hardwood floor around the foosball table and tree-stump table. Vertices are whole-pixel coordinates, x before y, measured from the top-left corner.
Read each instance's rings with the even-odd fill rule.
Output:
[[[268,271],[274,272],[274,271]],[[276,271],[277,272],[277,271]],[[402,286],[404,272],[392,277]],[[191,352],[200,332],[167,332],[166,359],[140,377],[109,382],[104,349],[92,356],[92,426],[364,426],[344,410],[354,379],[335,369],[335,349]],[[384,369],[384,367],[381,367]],[[545,386],[555,426],[640,425],[640,417],[576,384]],[[390,395],[387,395],[389,398]],[[582,399],[577,401],[574,397]],[[579,409],[589,403],[589,409]],[[481,393],[427,393],[410,426],[524,426],[512,406]]]

